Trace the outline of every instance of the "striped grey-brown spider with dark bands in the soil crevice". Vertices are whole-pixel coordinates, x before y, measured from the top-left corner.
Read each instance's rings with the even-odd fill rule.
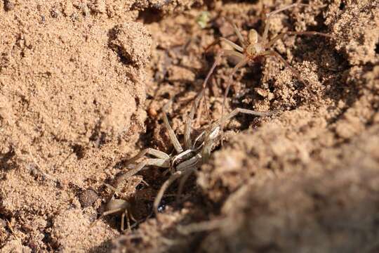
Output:
[[[119,179],[117,179],[117,182],[121,183],[122,181],[128,179],[130,176],[133,176],[134,174],[138,173],[138,171],[147,166],[168,168],[168,171],[171,173],[171,176],[167,179],[167,181],[164,182],[164,184],[161,186],[161,189],[159,190],[159,193],[157,194],[157,197],[155,197],[153,206],[155,214],[158,214],[159,202],[161,202],[161,199],[166,189],[171,185],[171,183],[173,183],[175,180],[179,178],[182,178],[178,186],[178,195],[180,195],[185,181],[188,179],[189,175],[196,171],[201,166],[201,164],[208,161],[208,158],[211,155],[211,151],[213,149],[213,145],[219,138],[220,121],[217,121],[211,124],[208,130],[201,132],[201,134],[199,134],[199,136],[197,136],[197,138],[195,138],[194,142],[192,143],[191,124],[194,118],[195,110],[199,105],[199,101],[201,100],[203,93],[204,90],[201,91],[194,99],[194,103],[185,122],[185,148],[182,148],[182,145],[180,145],[178,138],[176,138],[173,129],[168,123],[167,109],[171,105],[172,100],[170,100],[166,105],[164,105],[164,108],[162,108],[162,112],[164,125],[168,131],[168,136],[170,138],[171,143],[173,144],[173,147],[175,148],[177,155],[171,156],[167,155],[166,153],[160,150],[146,148],[145,150],[142,150],[140,153],[138,153],[138,155],[135,155],[135,157],[128,160],[127,165],[131,167],[131,170],[127,171],[125,174],[121,175]],[[237,108],[230,112],[230,114],[225,115],[225,117],[222,117],[221,120],[227,121],[232,117],[236,116],[238,113],[244,113],[255,116],[267,116],[272,115],[274,112],[256,112],[253,110]],[[134,165],[135,162],[140,160],[140,158],[145,157],[145,155],[151,155],[155,158],[149,157],[145,160],[142,160],[142,162],[139,162],[138,164]]]

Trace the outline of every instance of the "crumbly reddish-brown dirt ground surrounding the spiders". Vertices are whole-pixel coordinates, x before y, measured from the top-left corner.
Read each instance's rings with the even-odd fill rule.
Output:
[[[223,145],[151,215],[168,174],[126,182],[132,231],[97,221],[126,161],[142,148],[173,152],[215,55],[264,29],[264,9],[292,1],[0,1],[1,252],[377,252],[379,250],[379,2],[310,1],[272,18],[275,58],[235,74]],[[264,8],[265,6],[265,8]],[[208,50],[206,50],[208,48]],[[208,86],[220,117],[235,59]],[[210,119],[200,107],[193,136]],[[146,182],[143,183],[142,179]],[[93,221],[97,221],[93,224]],[[180,228],[204,229],[183,233]],[[197,231],[198,230],[198,231]]]

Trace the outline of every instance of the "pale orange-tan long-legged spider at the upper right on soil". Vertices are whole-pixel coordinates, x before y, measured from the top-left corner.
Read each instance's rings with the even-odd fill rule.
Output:
[[[272,11],[271,13],[267,13],[265,15],[266,24],[265,24],[265,29],[263,31],[262,36],[260,36],[256,30],[251,29],[248,32],[247,41],[244,39],[244,37],[242,37],[241,32],[239,32],[239,29],[237,28],[237,25],[235,25],[234,22],[231,22],[234,32],[237,35],[241,46],[235,44],[229,39],[222,38],[222,37],[220,38],[220,41],[224,41],[226,44],[232,46],[234,50],[221,49],[218,52],[217,56],[215,57],[215,62],[213,63],[211,67],[211,70],[209,70],[206,76],[206,79],[204,79],[203,89],[206,89],[206,84],[208,82],[208,79],[211,77],[211,74],[215,70],[215,67],[217,67],[221,63],[222,56],[233,56],[234,58],[237,58],[238,60],[237,65],[233,67],[232,72],[230,72],[229,78],[227,79],[227,82],[226,82],[227,86],[225,89],[224,98],[222,100],[221,117],[219,120],[220,131],[222,131],[222,128],[223,128],[222,117],[225,111],[225,100],[227,98],[227,94],[229,93],[230,85],[232,84],[233,75],[237,72],[237,70],[239,70],[239,68],[244,67],[244,65],[246,64],[253,65],[253,63],[258,62],[259,60],[262,60],[262,58],[265,58],[267,56],[274,56],[279,61],[281,61],[281,63],[284,63],[284,65],[288,67],[291,70],[291,72],[293,72],[293,74],[295,74],[295,76],[299,79],[300,82],[305,83],[302,77],[300,76],[300,72],[298,72],[298,70],[295,70],[293,67],[291,67],[291,65],[286,60],[284,60],[284,58],[279,53],[277,53],[277,51],[274,51],[272,49],[272,46],[274,46],[275,42],[278,41],[279,39],[282,39],[286,34],[288,35],[319,35],[319,36],[333,38],[331,35],[324,34],[322,32],[283,32],[281,34],[278,34],[272,39],[268,39],[268,31],[270,29],[270,18],[272,18],[273,15],[280,13],[281,11],[286,11],[289,8],[293,8],[295,6],[308,6],[308,5],[307,4],[291,4],[288,6],[284,6],[283,8],[279,8],[276,11]],[[204,96],[204,105],[206,105],[205,96]]]

